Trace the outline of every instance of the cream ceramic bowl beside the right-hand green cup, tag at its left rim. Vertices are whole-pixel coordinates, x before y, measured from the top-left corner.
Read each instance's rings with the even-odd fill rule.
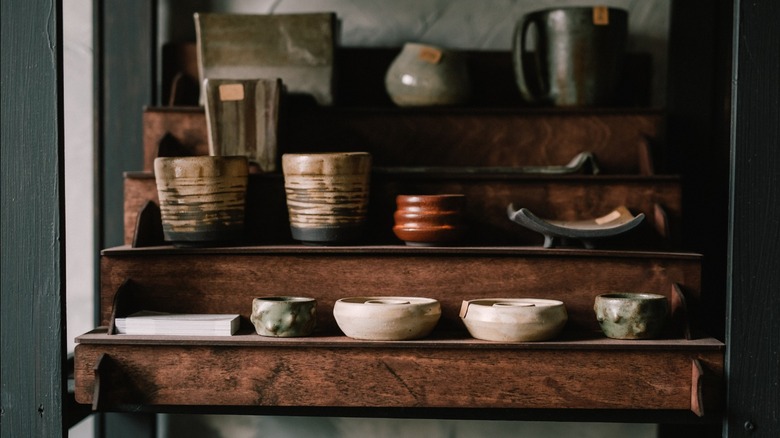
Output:
[[[463,301],[460,318],[471,336],[502,342],[552,339],[560,334],[569,319],[563,302],[537,298]]]

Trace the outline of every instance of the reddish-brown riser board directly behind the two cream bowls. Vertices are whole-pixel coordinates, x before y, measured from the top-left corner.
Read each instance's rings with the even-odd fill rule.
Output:
[[[337,299],[367,294],[438,299],[442,318],[436,330],[461,332],[458,312],[466,299],[558,299],[569,313],[567,327],[591,332],[598,330],[592,307],[599,293],[643,291],[670,296],[671,285],[677,283],[688,294],[690,306],[699,302],[701,259],[694,254],[541,248],[432,251],[405,246],[322,252],[306,248],[105,251],[101,262],[103,324],[108,325],[114,294],[127,278],[137,286],[136,299],[149,310],[238,313],[244,322],[254,297],[310,296],[318,300],[323,333],[337,331],[332,315]]]

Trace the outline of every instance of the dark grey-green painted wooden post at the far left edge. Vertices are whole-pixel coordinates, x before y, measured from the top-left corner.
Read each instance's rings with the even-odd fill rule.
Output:
[[[4,437],[67,435],[61,6],[0,6]]]

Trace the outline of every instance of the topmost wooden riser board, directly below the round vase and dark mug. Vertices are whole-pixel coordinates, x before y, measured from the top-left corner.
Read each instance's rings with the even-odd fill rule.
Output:
[[[279,148],[366,151],[376,166],[550,166],[589,151],[605,173],[637,174],[645,143],[654,154],[663,144],[664,124],[655,110],[287,108]],[[208,153],[202,109],[147,108],[145,170],[166,133],[186,153]]]

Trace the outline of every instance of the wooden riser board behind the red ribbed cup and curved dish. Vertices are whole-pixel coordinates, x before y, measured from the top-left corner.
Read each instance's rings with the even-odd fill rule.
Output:
[[[541,245],[541,234],[531,232],[507,218],[506,208],[526,207],[544,218],[564,220],[601,217],[624,205],[645,221],[625,237],[608,239],[603,247],[674,248],[680,241],[682,216],[680,180],[674,176],[567,176],[375,174],[372,176],[366,243],[401,241],[393,234],[395,198],[400,194],[463,193],[469,226],[464,243],[469,245]],[[128,173],[125,177],[125,244],[132,242],[138,212],[147,201],[157,202],[151,174]],[[656,205],[663,208],[670,235],[657,231]],[[292,243],[281,175],[250,175],[246,208],[248,244]]]

